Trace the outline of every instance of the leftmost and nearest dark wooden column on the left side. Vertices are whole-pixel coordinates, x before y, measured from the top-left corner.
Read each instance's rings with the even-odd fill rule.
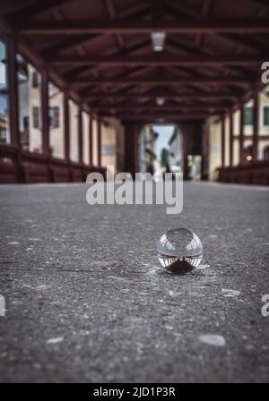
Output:
[[[7,74],[9,86],[9,124],[11,145],[20,148],[19,110],[17,90],[16,46],[13,38],[7,38]]]

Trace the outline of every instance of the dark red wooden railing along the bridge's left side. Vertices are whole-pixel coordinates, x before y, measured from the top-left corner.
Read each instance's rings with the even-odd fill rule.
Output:
[[[91,172],[105,176],[106,169],[0,145],[0,183],[85,182]]]

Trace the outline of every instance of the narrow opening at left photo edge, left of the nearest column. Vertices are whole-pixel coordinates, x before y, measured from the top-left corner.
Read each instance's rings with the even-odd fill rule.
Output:
[[[6,45],[0,39],[0,143],[10,142],[7,67]]]

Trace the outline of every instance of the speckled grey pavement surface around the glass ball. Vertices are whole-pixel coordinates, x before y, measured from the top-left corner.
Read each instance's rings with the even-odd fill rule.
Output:
[[[0,187],[0,381],[269,381],[268,189],[185,183],[178,216],[86,190]],[[160,269],[177,226],[208,267]]]

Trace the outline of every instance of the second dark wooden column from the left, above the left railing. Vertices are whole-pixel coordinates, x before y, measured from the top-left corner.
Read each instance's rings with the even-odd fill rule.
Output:
[[[41,71],[41,110],[42,110],[42,151],[51,156],[49,151],[49,127],[48,127],[48,73]]]

